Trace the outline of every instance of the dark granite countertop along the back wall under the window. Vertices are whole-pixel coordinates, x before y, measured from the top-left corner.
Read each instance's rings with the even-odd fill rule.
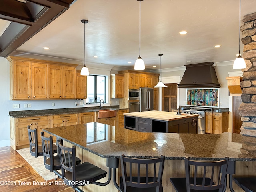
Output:
[[[127,109],[127,108],[119,108],[118,105],[114,105],[114,106],[103,106],[102,109],[121,110],[121,109]],[[94,112],[94,111],[99,111],[99,110],[100,110],[99,107],[79,107],[79,108],[63,108],[63,109],[9,111],[9,116],[12,118],[22,118],[22,117],[35,117],[35,116]]]

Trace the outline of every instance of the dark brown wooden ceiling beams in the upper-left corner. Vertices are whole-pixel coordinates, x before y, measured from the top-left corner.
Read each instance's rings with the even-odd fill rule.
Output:
[[[14,50],[68,10],[76,0],[1,0],[0,19],[10,21],[0,36],[0,56]]]

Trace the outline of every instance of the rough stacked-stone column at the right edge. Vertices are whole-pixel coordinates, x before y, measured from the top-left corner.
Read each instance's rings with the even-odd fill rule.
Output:
[[[244,16],[242,31],[242,42],[244,44],[243,58],[246,68],[242,70],[243,80],[240,83],[243,88],[239,106],[242,116],[241,134],[256,137],[256,13]]]

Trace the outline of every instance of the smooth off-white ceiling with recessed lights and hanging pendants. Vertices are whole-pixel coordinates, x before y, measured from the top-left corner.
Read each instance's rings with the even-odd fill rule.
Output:
[[[84,24],[80,20],[87,19],[86,65],[133,68],[139,55],[139,4],[137,0],[77,0],[12,55],[64,58],[82,66]],[[254,12],[256,0],[242,0],[241,20]],[[182,30],[188,34],[180,35]],[[154,65],[159,68],[160,53],[164,54],[162,69],[235,60],[238,32],[239,0],[141,2],[140,55],[147,70],[156,69]],[[217,44],[222,46],[214,48]],[[45,46],[50,49],[44,50]],[[242,46],[241,43],[241,52]]]

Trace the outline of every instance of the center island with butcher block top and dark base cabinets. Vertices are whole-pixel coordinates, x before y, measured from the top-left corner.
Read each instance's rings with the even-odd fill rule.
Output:
[[[124,113],[124,128],[140,132],[198,133],[198,114],[167,111]]]

